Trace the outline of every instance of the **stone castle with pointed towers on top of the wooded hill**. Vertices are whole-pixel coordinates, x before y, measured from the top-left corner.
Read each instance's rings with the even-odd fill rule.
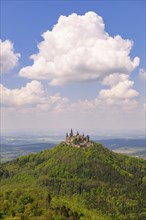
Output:
[[[89,135],[85,136],[80,135],[77,131],[76,135],[73,134],[73,130],[71,129],[70,134],[66,134],[66,142],[67,145],[71,145],[74,147],[89,147],[93,145],[93,143],[90,141]]]

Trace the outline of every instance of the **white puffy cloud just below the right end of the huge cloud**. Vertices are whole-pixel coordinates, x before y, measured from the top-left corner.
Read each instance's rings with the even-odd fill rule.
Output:
[[[101,89],[94,100],[81,101],[88,109],[132,110],[138,106],[139,93],[133,89],[134,82],[125,74],[112,74],[105,77],[103,85],[109,89]]]

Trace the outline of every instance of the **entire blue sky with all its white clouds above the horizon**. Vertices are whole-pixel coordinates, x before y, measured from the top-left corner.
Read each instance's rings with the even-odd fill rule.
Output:
[[[144,134],[145,1],[1,1],[1,132]]]

